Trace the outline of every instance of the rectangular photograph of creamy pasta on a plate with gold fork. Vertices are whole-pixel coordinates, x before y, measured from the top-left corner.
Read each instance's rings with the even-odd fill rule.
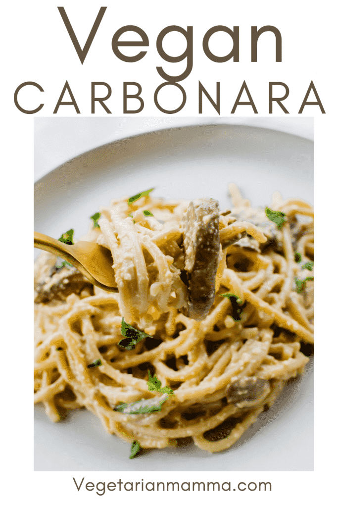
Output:
[[[34,469],[313,470],[313,118],[34,118]]]

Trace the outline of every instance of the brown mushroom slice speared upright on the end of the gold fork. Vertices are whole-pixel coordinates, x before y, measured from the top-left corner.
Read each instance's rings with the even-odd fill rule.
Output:
[[[189,281],[187,315],[203,320],[215,299],[219,263],[219,204],[196,199],[183,219],[184,269]]]

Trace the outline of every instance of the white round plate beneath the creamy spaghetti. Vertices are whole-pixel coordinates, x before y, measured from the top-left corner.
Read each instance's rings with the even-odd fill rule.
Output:
[[[152,187],[154,196],[213,197],[226,207],[230,182],[253,206],[269,204],[275,190],[313,203],[313,142],[269,129],[211,125],[105,144],[35,184],[34,228],[56,238],[74,228],[80,237],[100,205]],[[312,470],[312,361],[226,452],[209,454],[191,444],[130,460],[130,445],[105,433],[84,410],[55,424],[37,406],[34,433],[35,470]]]

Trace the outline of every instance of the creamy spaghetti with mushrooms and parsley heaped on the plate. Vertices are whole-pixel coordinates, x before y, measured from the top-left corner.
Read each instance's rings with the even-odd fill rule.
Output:
[[[256,209],[229,190],[231,210],[151,190],[101,207],[81,239],[111,251],[117,293],[37,259],[34,402],[52,421],[86,407],[130,457],[187,437],[217,452],[304,372],[313,208],[276,192]]]

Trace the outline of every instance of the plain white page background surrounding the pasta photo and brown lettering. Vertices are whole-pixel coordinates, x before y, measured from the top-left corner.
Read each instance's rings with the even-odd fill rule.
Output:
[[[9,495],[8,504],[26,503],[28,498],[36,504],[72,505],[81,500],[84,504],[95,501],[111,504],[117,500],[127,505],[138,503],[149,505],[160,501],[171,505],[172,501],[185,504],[189,501],[233,501],[244,505],[285,505],[302,502],[305,505],[328,503],[334,495],[334,468],[336,456],[336,410],[335,370],[336,327],[332,270],[335,263],[334,242],[336,202],[336,16],[334,3],[324,0],[305,2],[286,0],[244,1],[236,5],[209,0],[208,2],[134,1],[117,4],[110,2],[98,29],[84,65],[70,43],[69,35],[62,23],[56,3],[18,1],[3,7],[2,51],[4,74],[2,78],[3,133],[3,180],[2,217],[3,225],[3,294],[6,307],[3,309],[3,488]],[[101,1],[62,3],[83,47]],[[137,63],[127,64],[118,60],[111,51],[111,38],[121,26],[135,24],[143,28],[149,37],[147,55]],[[182,84],[187,93],[187,102],[179,116],[198,116],[198,81],[207,90],[215,90],[216,81],[221,85],[221,115],[230,115],[243,80],[245,79],[254,98],[258,116],[268,116],[269,81],[282,81],[290,88],[284,102],[290,116],[297,116],[299,107],[311,80],[314,81],[323,102],[326,114],[318,106],[306,106],[303,116],[315,117],[315,170],[317,241],[316,269],[316,469],[314,473],[232,473],[223,479],[221,473],[209,473],[208,480],[267,481],[273,484],[271,493],[264,492],[220,492],[220,493],[118,493],[107,492],[100,498],[95,491],[77,491],[73,473],[33,473],[32,471],[32,408],[31,408],[31,231],[32,231],[32,179],[33,179],[33,118],[20,113],[13,102],[14,90],[25,81],[35,81],[45,90],[44,108],[40,116],[53,116],[53,110],[66,80],[76,96],[82,115],[90,116],[90,83],[105,81],[110,84],[116,97],[109,99],[113,115],[122,114],[122,83],[136,81],[142,85],[145,107],[144,116],[165,116],[154,104],[156,87],[163,82],[156,66],[164,66],[168,73],[178,74],[181,63],[166,63],[156,51],[157,34],[165,27],[177,24],[194,26],[194,68]],[[223,24],[232,28],[240,26],[240,62],[217,64],[209,61],[202,51],[204,33],[212,26]],[[282,62],[274,61],[273,49],[258,45],[258,62],[250,62],[250,27],[276,26],[282,34]],[[267,35],[272,37],[272,35]],[[182,42],[182,41],[181,41]],[[181,43],[180,42],[180,43]],[[179,41],[177,40],[177,44]],[[172,45],[176,41],[172,41]],[[173,47],[173,46],[172,46]],[[179,47],[178,47],[179,48]],[[142,48],[143,49],[143,48]],[[229,48],[230,49],[230,48]],[[177,49],[176,54],[181,50]],[[169,50],[168,50],[169,52]],[[171,70],[175,69],[175,70]],[[177,70],[178,69],[178,70]],[[41,93],[28,93],[22,99],[26,105],[36,107]],[[65,99],[66,100],[66,99]],[[173,93],[169,100],[175,106],[177,97]],[[311,97],[309,98],[311,100]],[[203,114],[217,116],[213,107],[205,101]],[[108,102],[107,102],[108,105]],[[275,109],[276,107],[276,109]],[[98,115],[105,115],[99,111]],[[76,116],[73,107],[61,106],[59,116]],[[278,106],[274,115],[284,116]],[[253,115],[250,106],[239,106],[239,116]],[[11,241],[11,243],[10,243]],[[333,243],[333,244],[332,244]],[[330,378],[331,376],[331,378]],[[6,448],[7,446],[7,448]],[[144,481],[152,480],[155,473],[144,473]],[[167,473],[165,480],[179,482],[203,480],[206,474],[186,472],[180,477]],[[134,474],[121,472],[122,480],[139,480]],[[161,473],[162,476],[162,473]],[[85,482],[117,480],[108,472],[79,473],[76,479],[85,477]],[[162,480],[157,478],[154,480]],[[204,480],[207,480],[205,478]],[[183,498],[183,496],[185,497]],[[226,495],[224,497],[224,495]],[[156,496],[156,498],[155,498]],[[231,496],[231,498],[229,498]],[[95,500],[94,500],[95,498]]]

